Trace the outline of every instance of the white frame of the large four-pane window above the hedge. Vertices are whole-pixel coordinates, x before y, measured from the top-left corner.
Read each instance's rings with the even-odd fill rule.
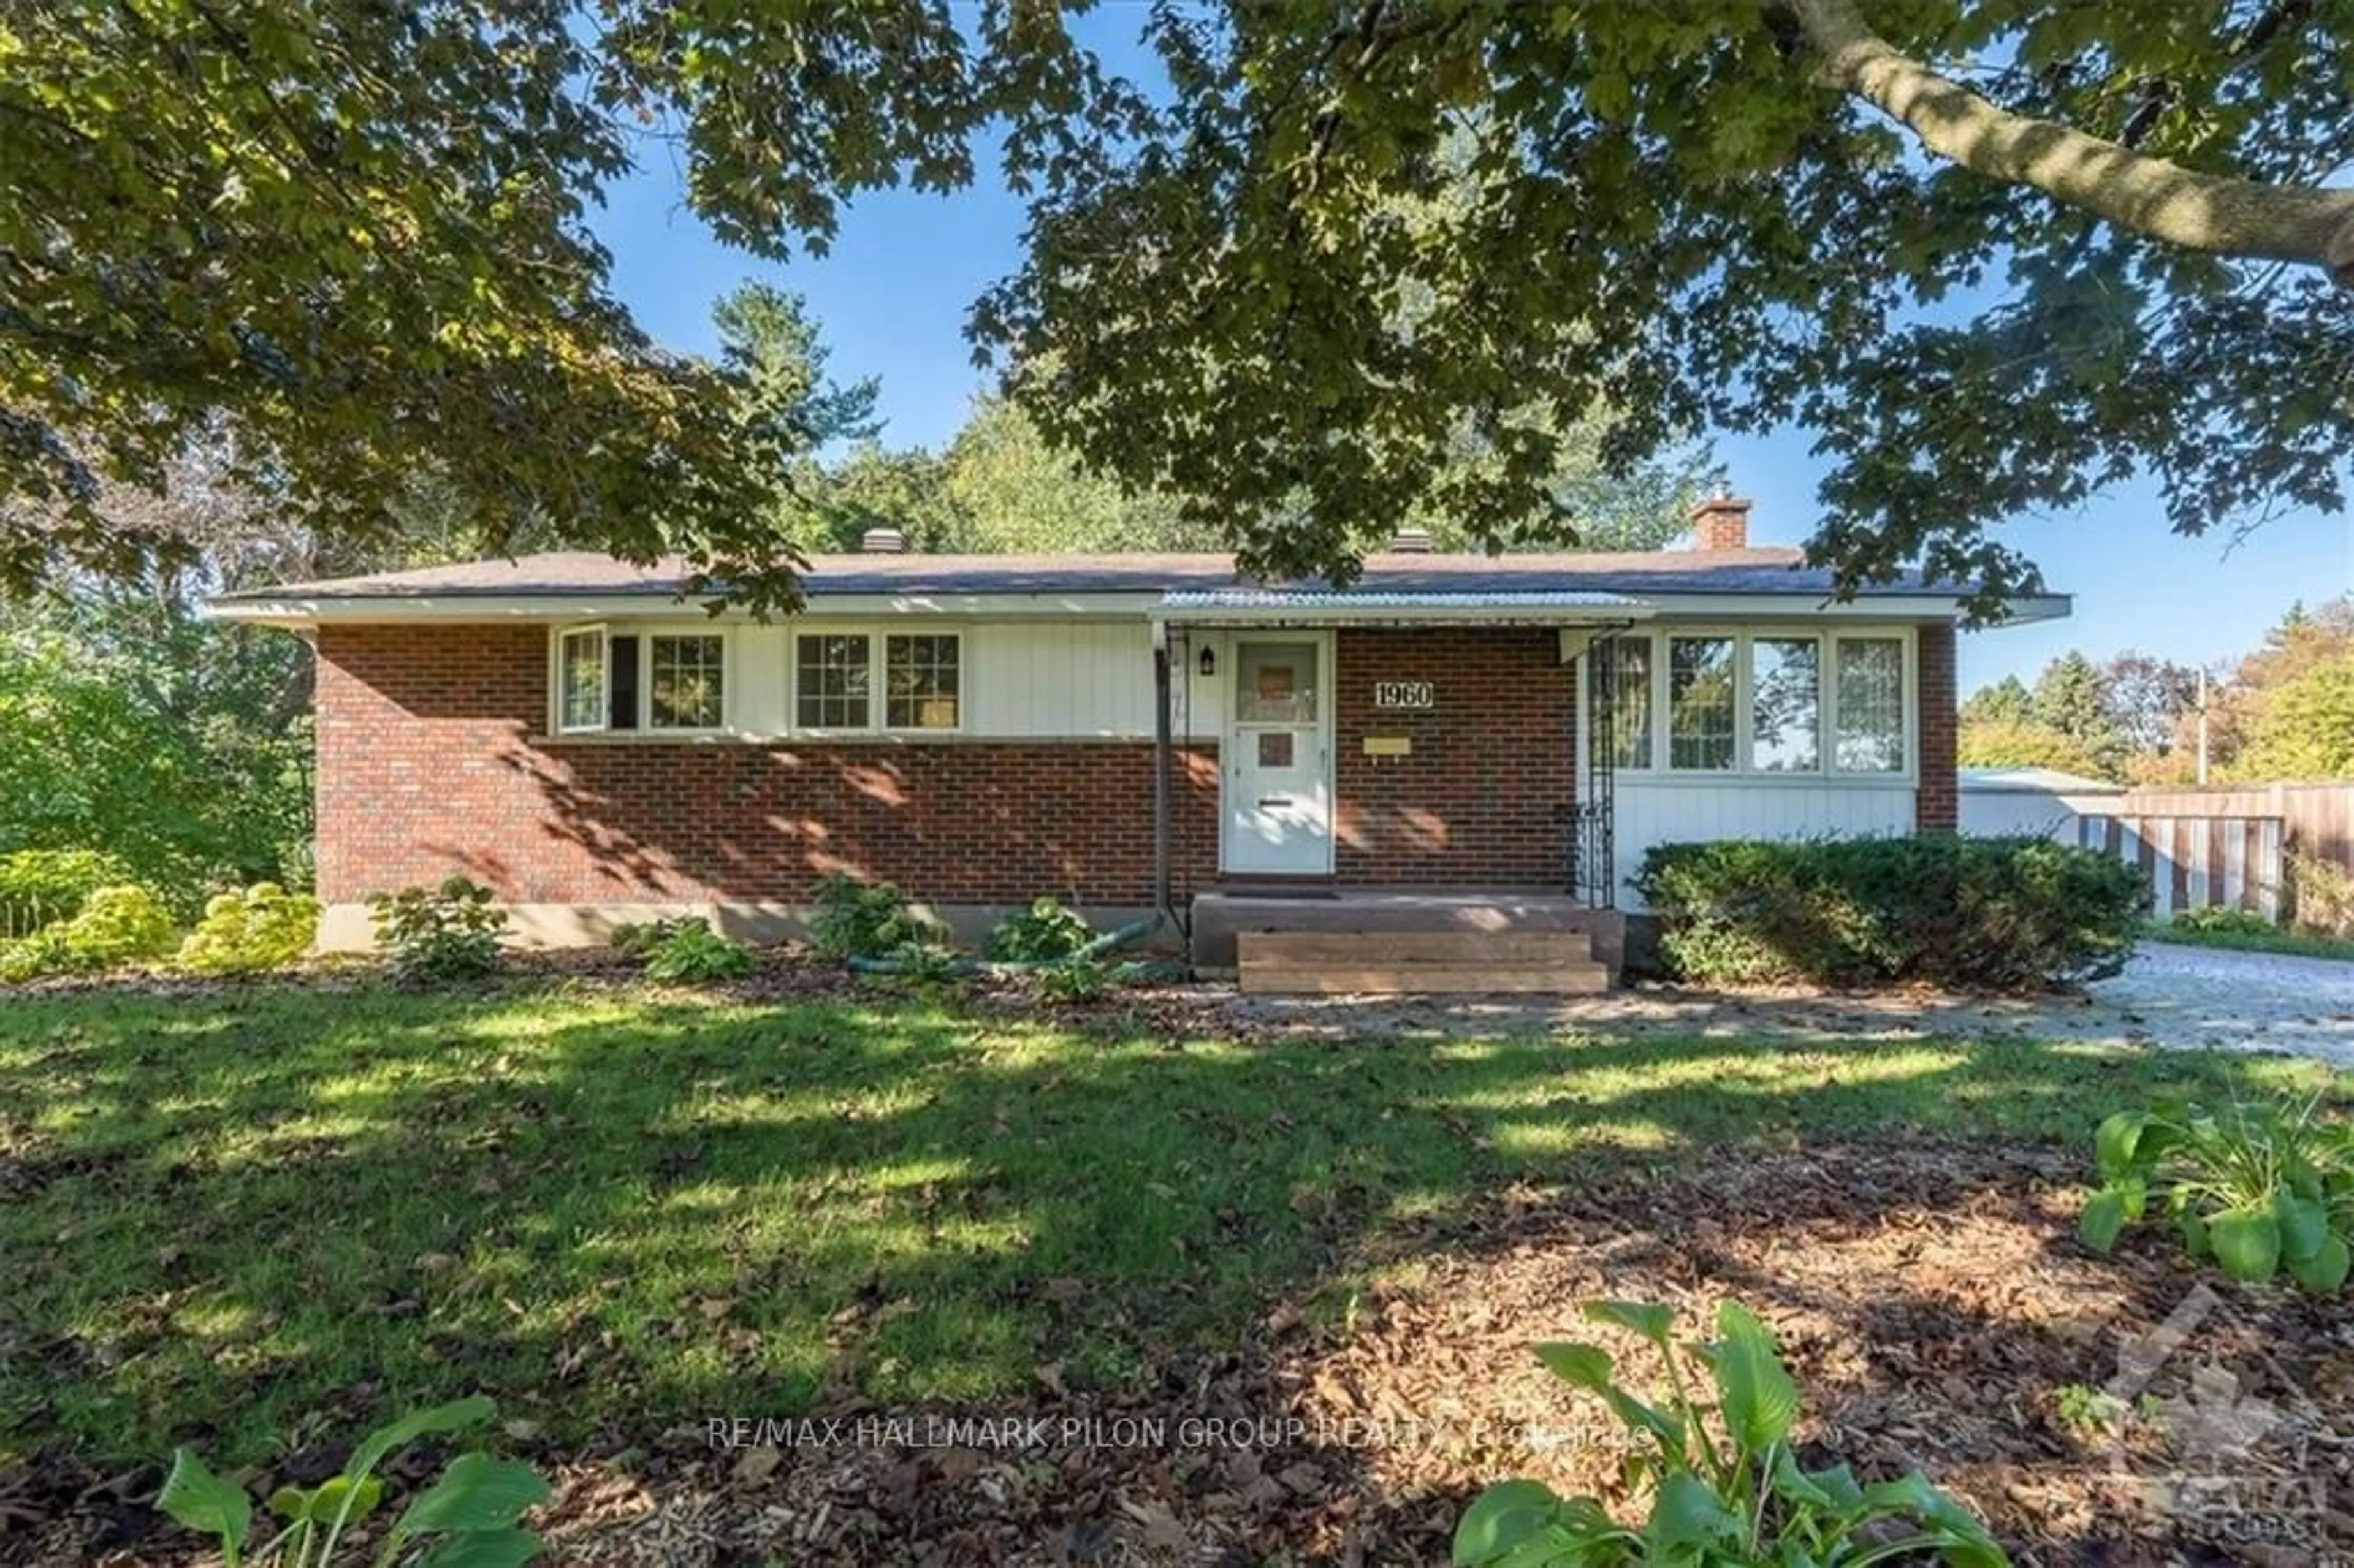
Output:
[[[1650,640],[1650,765],[1615,765],[1622,777],[1660,784],[1916,784],[1921,779],[1921,643],[1919,631],[1907,624],[1857,624],[1824,626],[1810,624],[1678,624],[1648,622],[1634,626],[1615,640]],[[1669,768],[1669,638],[1733,638],[1733,768]],[[1756,713],[1751,680],[1756,673],[1754,643],[1801,643],[1817,645],[1817,704],[1815,704],[1815,768],[1751,768],[1756,744]],[[1897,706],[1904,735],[1904,768],[1888,772],[1848,772],[1834,765],[1838,739],[1838,643],[1888,643],[1895,640],[1902,659],[1897,671]],[[1580,683],[1580,732],[1594,713],[1594,676]]]

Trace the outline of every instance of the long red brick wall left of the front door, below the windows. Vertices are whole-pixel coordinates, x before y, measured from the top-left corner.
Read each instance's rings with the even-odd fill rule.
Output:
[[[511,902],[805,899],[819,876],[944,904],[1149,904],[1151,742],[558,742],[539,626],[318,638],[327,902],[464,871]],[[1179,753],[1177,890],[1217,864],[1217,763]]]

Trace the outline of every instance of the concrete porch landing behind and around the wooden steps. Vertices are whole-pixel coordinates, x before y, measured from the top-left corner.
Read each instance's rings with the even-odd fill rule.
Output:
[[[1233,975],[1243,932],[1384,937],[1582,932],[1615,986],[1627,958],[1627,916],[1537,888],[1299,888],[1229,885],[1193,895],[1193,968]],[[1563,986],[1570,989],[1570,986]]]

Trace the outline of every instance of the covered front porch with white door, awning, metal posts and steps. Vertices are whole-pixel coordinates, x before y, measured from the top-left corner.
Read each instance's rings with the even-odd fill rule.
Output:
[[[1153,864],[1196,970],[1264,991],[1615,984],[1608,662],[1587,655],[1650,612],[1568,591],[1168,593]],[[1175,770],[1203,756],[1215,862],[1172,855]]]

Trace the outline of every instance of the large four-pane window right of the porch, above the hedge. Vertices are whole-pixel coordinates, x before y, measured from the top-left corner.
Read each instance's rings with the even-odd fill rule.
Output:
[[[1660,775],[1855,777],[1911,765],[1909,638],[1897,631],[1650,631],[1601,643],[1587,683],[1610,756]]]

